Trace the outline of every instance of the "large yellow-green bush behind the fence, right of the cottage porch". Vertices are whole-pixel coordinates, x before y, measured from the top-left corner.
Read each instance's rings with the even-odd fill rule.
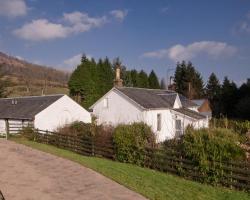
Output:
[[[199,163],[242,159],[240,137],[228,129],[187,129],[183,137],[186,156]]]

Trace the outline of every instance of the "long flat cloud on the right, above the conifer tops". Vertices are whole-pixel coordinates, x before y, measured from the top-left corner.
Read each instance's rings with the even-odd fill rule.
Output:
[[[177,44],[169,49],[161,49],[152,52],[146,52],[143,57],[149,58],[169,58],[173,61],[181,61],[195,58],[199,55],[208,55],[213,58],[219,56],[231,56],[237,49],[224,42],[200,41],[187,46]]]

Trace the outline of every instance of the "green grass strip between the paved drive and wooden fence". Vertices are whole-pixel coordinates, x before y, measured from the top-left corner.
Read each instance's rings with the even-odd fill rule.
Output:
[[[212,187],[131,164],[114,162],[102,158],[81,156],[54,146],[24,139],[13,140],[91,168],[152,200],[250,199],[249,193],[221,187]]]

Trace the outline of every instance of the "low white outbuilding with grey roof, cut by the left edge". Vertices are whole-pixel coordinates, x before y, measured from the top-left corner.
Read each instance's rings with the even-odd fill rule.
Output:
[[[67,95],[0,99],[0,134],[6,133],[7,126],[13,133],[28,124],[54,131],[74,121],[91,123],[91,115]]]

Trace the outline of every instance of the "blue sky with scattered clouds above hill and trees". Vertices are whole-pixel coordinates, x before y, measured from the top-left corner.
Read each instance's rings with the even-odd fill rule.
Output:
[[[84,53],[159,78],[191,61],[250,78],[250,0],[0,0],[0,51],[70,71]]]

